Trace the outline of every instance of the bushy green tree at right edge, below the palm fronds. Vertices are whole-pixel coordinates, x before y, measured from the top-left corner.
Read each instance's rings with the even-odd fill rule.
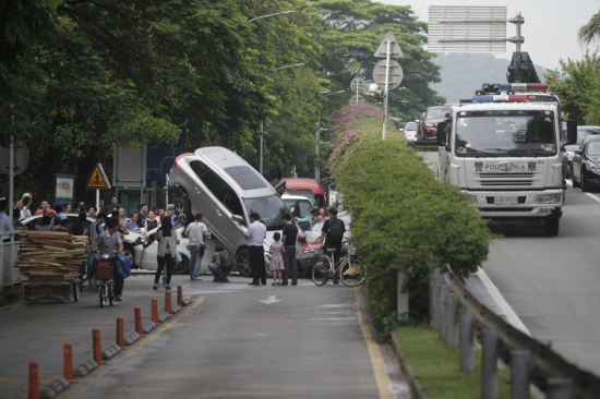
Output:
[[[561,98],[563,110],[577,124],[600,124],[600,70],[598,55],[586,52],[580,61],[561,60],[560,70],[548,71],[549,89]]]

